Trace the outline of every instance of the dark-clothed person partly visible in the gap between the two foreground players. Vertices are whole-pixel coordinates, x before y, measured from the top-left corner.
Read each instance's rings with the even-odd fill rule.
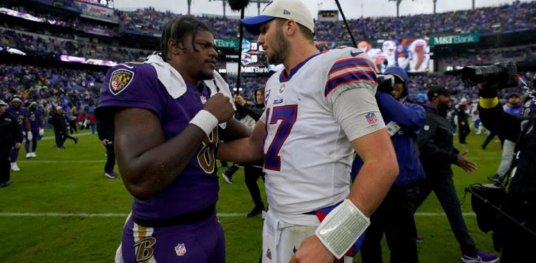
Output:
[[[234,96],[236,113],[240,114],[242,117],[240,121],[250,129],[253,129],[254,125],[257,123],[257,120],[261,118],[261,115],[264,112],[264,89],[256,89],[254,95],[254,103],[251,104],[248,104],[248,102],[246,102],[242,96]],[[248,119],[250,119],[250,121],[248,121]],[[248,213],[248,217],[260,215],[265,209],[264,203],[261,199],[261,192],[259,190],[259,186],[257,185],[257,180],[259,177],[261,177],[262,181],[264,181],[262,167],[263,161],[244,164],[245,186],[248,187],[248,190],[251,194],[251,199],[255,205],[251,212]]]

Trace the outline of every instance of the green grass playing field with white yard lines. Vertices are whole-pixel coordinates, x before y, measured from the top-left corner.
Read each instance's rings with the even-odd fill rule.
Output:
[[[103,175],[105,148],[97,136],[87,130],[79,133],[78,145],[67,140],[67,149],[58,150],[53,147],[53,133],[47,130],[37,158],[30,160],[21,149],[21,172],[12,172],[11,185],[0,188],[0,262],[113,262],[132,197],[121,179]],[[480,149],[484,138],[470,134],[467,147],[456,143],[460,150],[469,149],[467,157],[478,164],[473,174],[453,168],[460,199],[465,186],[487,183],[486,177],[499,164],[500,144],[492,141],[484,151]],[[253,204],[242,169],[233,180],[234,184],[228,184],[221,179],[217,206],[225,229],[227,262],[257,262],[262,218],[245,217]],[[469,232],[478,248],[491,252],[491,235],[478,230],[469,200],[468,195],[462,205],[468,213]],[[421,262],[460,262],[460,249],[441,213],[434,194],[417,211],[417,229],[424,237],[419,244]],[[389,262],[383,244],[384,261]],[[354,262],[361,262],[360,257]]]

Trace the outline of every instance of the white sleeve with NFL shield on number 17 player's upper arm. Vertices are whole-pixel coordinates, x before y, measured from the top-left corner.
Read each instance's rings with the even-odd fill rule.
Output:
[[[346,89],[331,99],[334,116],[349,141],[386,127],[370,89]]]

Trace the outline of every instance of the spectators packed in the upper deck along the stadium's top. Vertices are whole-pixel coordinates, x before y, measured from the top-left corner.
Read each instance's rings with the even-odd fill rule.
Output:
[[[2,5],[6,6],[6,5]],[[34,10],[27,10],[21,6],[6,6],[12,10],[28,12],[36,17],[58,21],[61,26],[80,30],[80,21],[71,17],[51,16]],[[531,22],[536,12],[536,2],[519,2],[511,4],[476,8],[474,10],[458,10],[438,14],[408,15],[401,17],[362,17],[349,19],[348,23],[352,33],[359,39],[401,39],[404,37],[426,37],[430,35],[474,33],[490,34],[515,30],[535,28]],[[117,11],[124,28],[135,30],[153,30],[160,32],[167,21],[173,17],[183,16],[173,12],[162,12],[155,8],[143,8],[134,11]],[[216,17],[196,17],[204,21],[212,30],[216,38],[234,38],[239,35],[239,21],[237,19],[224,19]],[[82,25],[83,26],[83,25]],[[93,25],[92,26],[96,26]],[[97,26],[106,28],[105,26]],[[316,22],[316,39],[331,41],[337,39],[341,42],[350,40],[343,21]],[[112,28],[107,28],[112,29]],[[246,33],[246,39],[254,39]]]

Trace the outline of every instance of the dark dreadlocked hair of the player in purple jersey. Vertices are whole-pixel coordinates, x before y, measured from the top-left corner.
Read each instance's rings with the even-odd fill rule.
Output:
[[[176,43],[184,43],[184,39],[191,35],[191,45],[194,51],[198,51],[195,45],[196,33],[198,30],[205,30],[213,34],[210,27],[205,22],[199,21],[193,17],[176,17],[167,22],[160,38],[160,53],[162,60],[167,62],[168,57],[168,42],[169,39],[174,39]]]

